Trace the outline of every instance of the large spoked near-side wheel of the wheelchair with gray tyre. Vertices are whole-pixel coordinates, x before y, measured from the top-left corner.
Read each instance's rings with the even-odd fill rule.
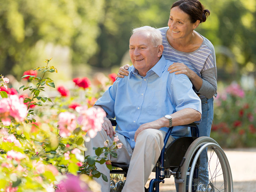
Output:
[[[208,169],[200,169],[200,154],[208,151]],[[218,143],[210,137],[199,137],[192,142],[185,154],[186,161],[181,168],[180,192],[233,192],[233,180],[227,157]],[[198,179],[198,171],[207,180]],[[208,173],[207,173],[208,171]],[[189,176],[188,176],[189,175]]]

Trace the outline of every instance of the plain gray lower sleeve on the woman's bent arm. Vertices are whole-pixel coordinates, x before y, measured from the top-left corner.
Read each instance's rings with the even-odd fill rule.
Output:
[[[200,95],[210,99],[217,92],[217,68],[213,67],[201,72],[203,84],[200,90],[197,92]]]

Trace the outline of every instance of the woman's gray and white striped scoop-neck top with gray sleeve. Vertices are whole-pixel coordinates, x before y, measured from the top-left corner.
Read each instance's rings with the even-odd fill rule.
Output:
[[[194,52],[186,53],[175,50],[167,41],[166,33],[169,27],[159,28],[163,37],[163,56],[171,62],[184,63],[199,77],[203,79],[203,84],[197,92],[200,98],[211,98],[217,91],[217,68],[215,51],[212,43],[203,37],[203,43]],[[215,95],[216,96],[216,95]]]

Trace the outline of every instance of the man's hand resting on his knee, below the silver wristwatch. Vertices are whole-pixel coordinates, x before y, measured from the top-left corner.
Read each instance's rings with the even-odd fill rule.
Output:
[[[134,140],[136,141],[136,138],[138,136],[138,134],[143,131],[144,129],[148,129],[148,128],[153,128],[153,129],[160,129],[162,127],[165,127],[165,124],[169,124],[169,121],[168,119],[162,117],[160,119],[157,119],[155,121],[151,121],[151,122],[148,122],[148,123],[144,123],[142,124],[138,129],[137,131],[135,132],[135,135],[134,135]]]

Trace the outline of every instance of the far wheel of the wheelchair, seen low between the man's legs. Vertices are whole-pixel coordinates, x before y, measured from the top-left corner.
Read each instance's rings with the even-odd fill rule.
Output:
[[[115,168],[121,170],[121,168]],[[125,183],[124,174],[111,173],[110,174],[110,192],[121,192]]]

